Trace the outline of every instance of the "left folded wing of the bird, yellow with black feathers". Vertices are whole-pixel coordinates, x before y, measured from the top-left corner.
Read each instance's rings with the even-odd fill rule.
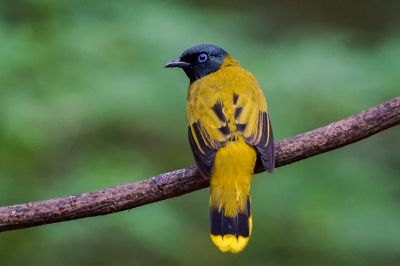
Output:
[[[211,108],[210,108],[211,106]],[[216,151],[230,137],[223,103],[211,105],[204,99],[188,102],[189,143],[203,176],[211,176]]]

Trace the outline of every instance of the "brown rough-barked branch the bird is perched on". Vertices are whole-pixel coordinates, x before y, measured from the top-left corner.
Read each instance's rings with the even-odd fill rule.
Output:
[[[400,124],[400,97],[325,127],[277,142],[276,167],[297,162],[367,138]],[[256,172],[262,172],[260,166]],[[161,174],[131,184],[0,208],[0,231],[105,215],[177,197],[207,187],[196,167]]]

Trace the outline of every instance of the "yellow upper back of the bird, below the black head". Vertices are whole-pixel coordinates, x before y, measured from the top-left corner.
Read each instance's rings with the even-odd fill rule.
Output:
[[[258,112],[266,111],[265,97],[256,79],[230,56],[220,70],[189,86],[189,125],[200,121],[210,137],[218,141],[236,140],[242,135],[249,137],[257,127]],[[221,130],[225,123],[230,135],[224,135]],[[243,125],[247,131],[242,134]]]

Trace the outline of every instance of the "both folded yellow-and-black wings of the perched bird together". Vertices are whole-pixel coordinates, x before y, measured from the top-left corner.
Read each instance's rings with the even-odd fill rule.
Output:
[[[190,85],[188,135],[203,176],[211,176],[218,149],[239,136],[256,149],[265,170],[273,171],[274,142],[265,97],[254,76],[243,70],[238,73],[221,88],[208,85],[207,80]]]

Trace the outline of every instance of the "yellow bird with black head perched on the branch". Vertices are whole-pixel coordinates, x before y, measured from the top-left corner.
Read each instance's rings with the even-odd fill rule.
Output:
[[[166,68],[189,78],[186,102],[190,147],[201,176],[210,178],[210,236],[222,252],[248,244],[253,221],[250,183],[256,163],[275,166],[270,116],[253,74],[224,49],[200,44]]]

